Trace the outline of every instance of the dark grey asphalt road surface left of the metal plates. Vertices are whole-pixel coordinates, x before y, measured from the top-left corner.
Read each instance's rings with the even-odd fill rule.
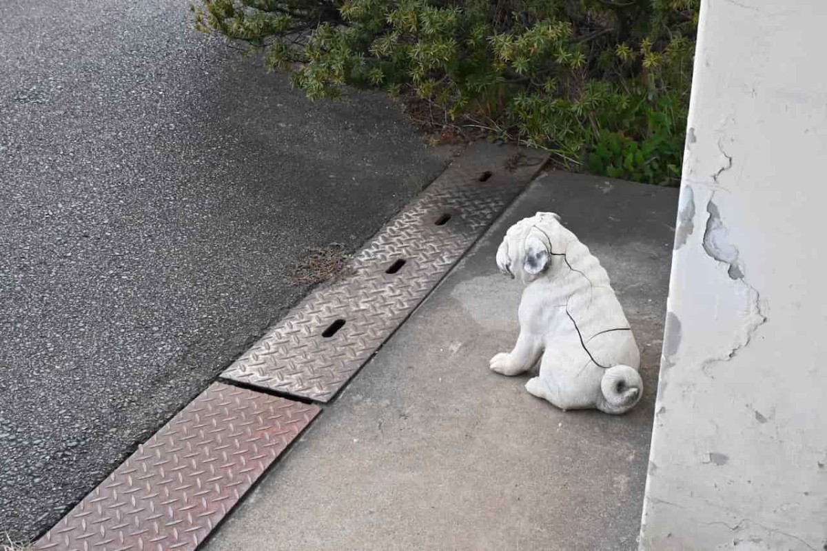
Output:
[[[444,166],[311,103],[186,0],[0,2],[0,533],[30,539]]]

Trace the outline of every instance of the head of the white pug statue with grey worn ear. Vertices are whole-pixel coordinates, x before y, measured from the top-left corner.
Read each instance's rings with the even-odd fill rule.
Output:
[[[552,256],[565,254],[562,225],[555,213],[523,218],[505,232],[497,250],[497,266],[505,275],[528,285],[552,267]],[[557,247],[555,247],[557,245]]]

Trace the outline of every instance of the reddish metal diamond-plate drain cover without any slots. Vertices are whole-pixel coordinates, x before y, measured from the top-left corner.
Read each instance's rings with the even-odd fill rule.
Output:
[[[318,411],[214,383],[35,549],[195,549]]]

